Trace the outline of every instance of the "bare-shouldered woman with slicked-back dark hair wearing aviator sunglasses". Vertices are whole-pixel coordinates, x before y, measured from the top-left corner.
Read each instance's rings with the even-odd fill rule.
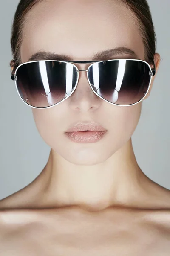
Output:
[[[170,191],[131,141],[160,64],[146,0],[21,0],[11,46],[51,153],[0,201],[0,255],[170,255]]]

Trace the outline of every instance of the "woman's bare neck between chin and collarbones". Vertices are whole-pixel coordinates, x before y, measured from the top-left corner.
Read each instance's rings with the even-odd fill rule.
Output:
[[[105,162],[95,166],[71,164],[51,149],[38,180],[43,204],[49,207],[76,205],[105,209],[135,204],[149,179],[136,162],[130,139]]]

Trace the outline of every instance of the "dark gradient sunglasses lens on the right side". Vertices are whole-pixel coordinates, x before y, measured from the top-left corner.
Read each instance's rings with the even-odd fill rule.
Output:
[[[88,79],[103,99],[118,105],[130,105],[143,99],[150,84],[150,68],[137,60],[113,60],[94,63]]]

